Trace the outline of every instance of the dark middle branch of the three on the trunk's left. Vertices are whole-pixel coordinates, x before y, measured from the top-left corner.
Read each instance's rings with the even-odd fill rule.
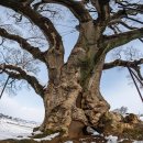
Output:
[[[2,28],[0,28],[0,36],[18,42],[20,44],[20,46],[23,50],[31,53],[34,58],[37,58],[37,59],[40,59],[42,62],[45,62],[45,58],[43,56],[44,53],[41,52],[38,47],[34,47],[31,44],[29,44],[25,38],[23,38],[23,37],[21,37],[19,35],[10,34]]]

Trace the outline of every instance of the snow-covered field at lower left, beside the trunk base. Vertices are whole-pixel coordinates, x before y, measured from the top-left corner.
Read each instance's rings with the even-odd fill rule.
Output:
[[[0,118],[0,140],[26,139],[36,125],[24,120]]]

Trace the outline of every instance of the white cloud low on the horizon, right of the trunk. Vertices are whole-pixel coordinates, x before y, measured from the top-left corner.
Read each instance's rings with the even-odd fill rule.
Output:
[[[129,112],[143,113],[143,103],[134,88],[124,86],[118,90],[113,89],[112,92],[109,91],[107,95],[110,95],[106,99],[112,109],[124,106],[129,108]]]

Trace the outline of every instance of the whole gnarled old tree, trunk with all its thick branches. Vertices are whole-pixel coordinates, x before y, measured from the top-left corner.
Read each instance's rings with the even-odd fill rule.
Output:
[[[35,77],[28,75],[15,65],[2,64],[0,69],[12,78],[25,79],[43,98],[45,119],[40,127],[41,131],[61,132],[63,136],[76,138],[84,133],[85,127],[96,128],[100,118],[110,108],[100,92],[103,68],[109,69],[114,66],[135,68],[142,64],[142,61],[136,63],[118,61],[105,64],[108,52],[143,36],[143,28],[129,29],[119,34],[113,28],[114,24],[119,24],[119,20],[128,19],[127,14],[140,12],[142,4],[136,10],[127,9],[125,11],[123,9],[111,13],[109,0],[90,0],[90,4],[98,13],[95,20],[90,15],[90,10],[85,7],[89,1],[42,0],[31,7],[33,1],[7,0],[0,1],[0,6],[10,8],[30,19],[43,32],[50,43],[50,48],[41,52],[38,47],[30,45],[25,38],[11,34],[3,28],[0,28],[0,36],[18,42],[21,48],[45,63],[48,68],[48,85],[44,88]],[[41,4],[46,3],[67,7],[79,21],[79,37],[66,63],[64,63],[64,46],[59,33],[48,18],[36,11]],[[111,28],[114,34],[105,35],[107,26]]]

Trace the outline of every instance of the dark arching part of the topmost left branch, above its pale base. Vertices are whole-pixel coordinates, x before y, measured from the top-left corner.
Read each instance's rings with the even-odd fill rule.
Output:
[[[62,37],[50,19],[35,12],[34,10],[32,10],[31,7],[25,6],[24,3],[18,2],[15,0],[0,1],[0,6],[10,8],[15,12],[25,15],[30,21],[32,21],[35,25],[37,25],[43,31],[45,37],[50,43],[50,47],[59,48],[59,45],[62,43]]]

